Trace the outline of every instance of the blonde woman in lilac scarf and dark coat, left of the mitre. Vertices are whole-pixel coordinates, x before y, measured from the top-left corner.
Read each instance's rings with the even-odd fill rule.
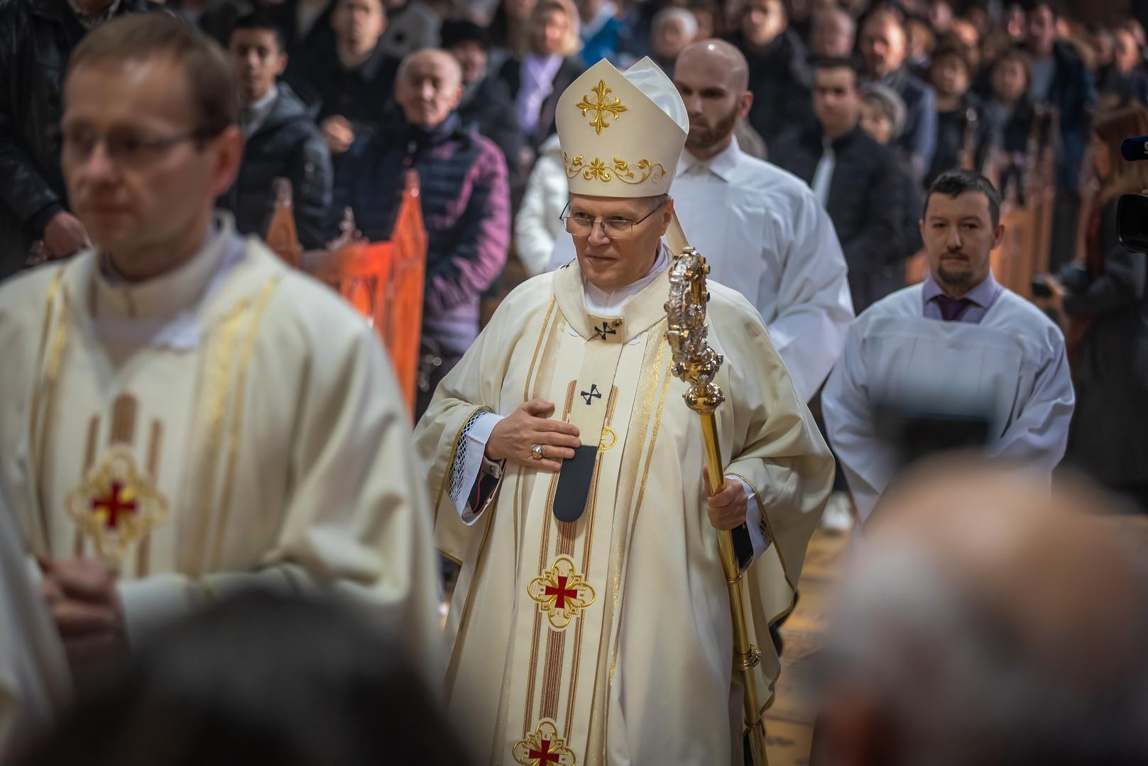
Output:
[[[498,77],[514,96],[519,125],[535,149],[554,132],[558,96],[585,67],[577,53],[577,9],[571,0],[538,0],[530,11],[529,50],[510,58]]]

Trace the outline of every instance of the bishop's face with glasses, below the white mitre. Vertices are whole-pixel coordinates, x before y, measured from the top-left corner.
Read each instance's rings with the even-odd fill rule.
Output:
[[[650,273],[674,211],[673,200],[660,202],[660,197],[571,195],[567,230],[574,237],[579,267],[591,284],[599,290],[618,290]],[[605,221],[615,235],[604,232],[598,222],[589,226],[589,233],[580,233],[589,221]],[[621,234],[627,228],[629,234]]]

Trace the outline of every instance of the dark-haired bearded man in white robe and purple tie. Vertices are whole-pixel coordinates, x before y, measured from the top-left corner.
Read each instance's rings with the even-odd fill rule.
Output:
[[[1000,204],[983,175],[943,173],[921,221],[929,276],[850,328],[822,412],[862,519],[915,451],[883,438],[901,416],[933,423],[916,435],[923,443],[951,423],[980,422],[971,440],[986,455],[1046,477],[1064,455],[1075,402],[1064,337],[993,278]]]

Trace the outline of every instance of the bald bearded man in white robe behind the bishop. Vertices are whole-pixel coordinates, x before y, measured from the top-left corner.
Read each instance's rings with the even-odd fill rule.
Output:
[[[674,85],[690,133],[674,195],[711,276],[761,312],[798,394],[808,401],[853,321],[845,257],[809,187],[738,147],[734,126],[753,103],[747,83],[745,56],[722,40],[695,42],[677,57]],[[559,237],[551,268],[573,255],[569,237]]]

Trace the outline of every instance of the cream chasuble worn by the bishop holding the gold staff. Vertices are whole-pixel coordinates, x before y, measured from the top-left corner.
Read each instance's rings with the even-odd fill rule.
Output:
[[[753,487],[771,541],[744,583],[767,701],[778,671],[767,626],[792,603],[833,463],[758,311],[720,284],[709,290],[709,341],[726,355],[716,378],[726,474]],[[669,369],[668,295],[665,269],[616,315],[596,316],[576,261],[529,280],[416,429],[432,467],[436,542],[461,563],[447,695],[476,763],[742,763],[729,597],[699,419]],[[507,463],[467,525],[452,500],[467,488],[451,485],[466,425],[533,398],[554,402],[560,419],[603,408],[600,437],[582,429],[583,445],[598,440],[584,511],[559,522],[559,476]]]

